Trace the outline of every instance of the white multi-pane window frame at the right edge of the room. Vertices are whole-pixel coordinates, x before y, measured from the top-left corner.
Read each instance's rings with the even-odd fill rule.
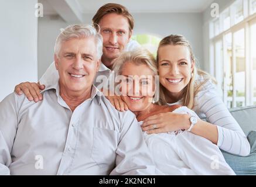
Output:
[[[235,12],[234,12],[234,6],[237,5],[238,0],[235,1],[233,4],[231,4],[228,8],[224,9],[220,13],[219,18],[215,18],[212,20],[210,23],[210,27],[214,28],[214,22],[216,22],[216,19],[219,19],[220,22],[220,33],[215,34],[215,30],[213,33],[209,33],[210,35],[210,67],[214,67],[214,70],[212,71],[214,76],[220,74],[217,72],[217,64],[223,63],[223,74],[221,78],[218,78],[220,76],[217,76],[217,82],[222,82],[221,85],[219,85],[219,88],[222,88],[223,92],[223,101],[228,105],[228,102],[230,102],[230,98],[227,96],[227,69],[226,65],[224,65],[227,62],[227,46],[225,43],[225,36],[228,33],[232,34],[232,67],[231,67],[231,73],[233,75],[233,96],[232,96],[232,108],[237,106],[237,96],[236,96],[236,86],[237,83],[235,82],[235,65],[236,65],[236,58],[235,58],[235,39],[234,39],[234,33],[237,32],[238,30],[244,29],[244,57],[245,57],[245,101],[244,105],[252,105],[253,104],[253,83],[252,83],[252,49],[251,49],[251,25],[256,24],[256,12],[251,14],[252,12],[252,0],[244,0],[243,1],[243,14],[244,14],[244,19],[238,22],[237,24],[235,23]],[[224,30],[224,13],[227,13],[227,11],[230,13],[230,28]],[[213,25],[212,25],[213,24]],[[209,29],[210,29],[209,27]],[[215,29],[215,28],[214,28]],[[222,62],[216,62],[216,44],[218,41],[222,41]]]

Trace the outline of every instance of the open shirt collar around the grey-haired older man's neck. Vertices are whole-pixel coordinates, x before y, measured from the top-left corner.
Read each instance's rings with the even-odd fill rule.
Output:
[[[56,84],[52,86],[48,86],[47,88],[43,89],[40,93],[49,91],[50,89],[55,89],[56,90],[56,95],[59,98],[60,96],[60,85],[59,81],[56,82]],[[94,99],[96,97],[98,104],[100,105],[101,103],[101,97],[103,96],[103,93],[98,90],[98,88],[95,85],[91,86],[91,97],[90,99]]]

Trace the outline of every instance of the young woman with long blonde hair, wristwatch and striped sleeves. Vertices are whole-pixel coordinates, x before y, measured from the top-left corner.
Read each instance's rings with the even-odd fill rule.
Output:
[[[193,134],[207,138],[228,153],[250,154],[250,143],[217,94],[214,79],[196,69],[192,47],[185,37],[170,35],[162,39],[157,63],[163,105],[180,104],[200,117],[205,115],[209,122],[198,120],[191,129]],[[152,133],[166,132],[177,124],[182,129],[184,120],[182,115],[163,113],[145,119],[143,127],[148,130],[152,124],[157,124],[160,128]]]

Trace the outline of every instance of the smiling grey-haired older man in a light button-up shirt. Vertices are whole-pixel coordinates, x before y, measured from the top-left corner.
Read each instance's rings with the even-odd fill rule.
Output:
[[[155,174],[135,116],[93,85],[102,47],[93,27],[67,27],[54,47],[60,78],[43,101],[11,93],[0,103],[0,174]]]

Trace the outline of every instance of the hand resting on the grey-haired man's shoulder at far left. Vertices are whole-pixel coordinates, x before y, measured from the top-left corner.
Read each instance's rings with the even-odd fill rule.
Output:
[[[39,82],[22,82],[15,86],[15,92],[18,95],[22,95],[24,93],[29,101],[41,101],[43,99],[40,90],[45,89],[45,85],[40,85]]]

